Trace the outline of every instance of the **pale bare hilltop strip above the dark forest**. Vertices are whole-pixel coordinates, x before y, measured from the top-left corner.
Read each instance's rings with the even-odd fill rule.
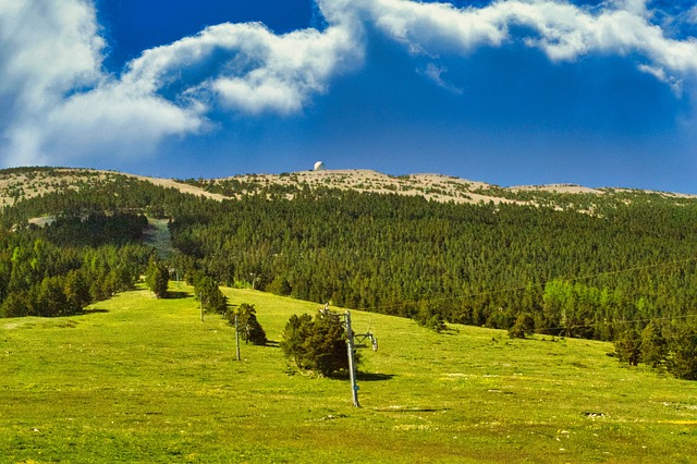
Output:
[[[175,180],[78,168],[14,168],[0,171],[0,205],[12,206],[20,199],[63,190],[77,191],[85,185],[111,183],[121,178],[145,181],[217,200],[239,198],[243,194],[258,194],[273,188],[284,192],[286,197],[292,197],[305,186],[310,190],[338,188],[359,193],[420,196],[439,203],[503,203],[553,206],[562,209],[578,206],[579,209],[589,210],[598,203],[627,202],[631,197],[653,197],[674,200],[677,204],[697,198],[696,195],[680,193],[616,187],[591,188],[565,183],[502,187],[437,173],[394,176],[365,169]]]

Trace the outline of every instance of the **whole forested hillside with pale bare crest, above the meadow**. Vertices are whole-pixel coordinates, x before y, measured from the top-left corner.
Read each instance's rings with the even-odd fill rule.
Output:
[[[1,317],[80,314],[148,267],[435,330],[617,341],[629,363],[697,379],[694,197],[371,171],[1,175]]]

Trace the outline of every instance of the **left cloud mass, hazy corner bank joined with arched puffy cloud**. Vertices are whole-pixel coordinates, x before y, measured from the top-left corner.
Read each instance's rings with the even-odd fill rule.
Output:
[[[359,39],[341,25],[278,36],[261,24],[221,24],[145,50],[114,76],[102,69],[91,1],[0,0],[0,158],[136,156],[201,131],[213,107],[297,112],[360,62]]]

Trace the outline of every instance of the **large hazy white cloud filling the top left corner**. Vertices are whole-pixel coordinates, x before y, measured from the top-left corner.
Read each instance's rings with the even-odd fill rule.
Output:
[[[148,151],[201,125],[147,89],[102,70],[93,2],[0,0],[0,154],[5,164]]]

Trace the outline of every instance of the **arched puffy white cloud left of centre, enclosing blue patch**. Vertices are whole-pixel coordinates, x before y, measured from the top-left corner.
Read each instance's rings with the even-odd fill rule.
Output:
[[[302,110],[311,95],[323,93],[338,72],[362,57],[356,34],[341,26],[277,36],[261,24],[221,24],[147,50],[130,64],[122,81],[152,93],[183,69],[209,69],[212,63],[216,71],[187,83],[187,95],[208,96],[228,109],[253,114],[289,114]]]

